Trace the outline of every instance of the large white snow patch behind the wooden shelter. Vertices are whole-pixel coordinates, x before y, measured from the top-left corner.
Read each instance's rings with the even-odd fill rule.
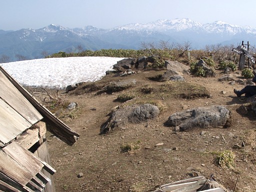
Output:
[[[1,63],[1,66],[23,86],[65,88],[77,82],[99,80],[121,59],[104,56],[40,58]]]

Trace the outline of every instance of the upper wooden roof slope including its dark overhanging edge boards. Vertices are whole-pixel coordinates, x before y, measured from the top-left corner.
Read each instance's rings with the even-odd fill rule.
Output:
[[[72,145],[79,134],[42,106],[0,66],[0,146],[6,144],[41,119],[47,130]]]

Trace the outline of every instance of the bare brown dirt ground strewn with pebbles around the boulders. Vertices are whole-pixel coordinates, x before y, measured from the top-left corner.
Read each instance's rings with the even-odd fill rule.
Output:
[[[95,95],[96,91],[81,91],[78,95],[61,94],[64,100],[78,103],[77,109],[69,115],[71,118],[62,120],[80,137],[73,146],[68,146],[47,133],[51,164],[56,169],[56,191],[147,191],[156,185],[197,174],[207,178],[214,174],[215,179],[229,190],[235,187],[235,191],[256,191],[255,114],[242,115],[237,112],[236,109],[246,102],[246,98],[236,97],[233,88],[240,89],[244,85],[218,81],[221,71],[216,70],[216,77],[207,78],[184,75],[187,83],[204,86],[210,97],[187,99],[165,94],[154,98],[164,106],[157,120],[129,124],[107,134],[99,134],[100,125],[107,120],[107,114],[121,104],[115,101],[119,94],[135,93],[144,85],[153,88],[160,86],[164,82],[152,81],[148,77],[163,72],[147,70],[125,77],[107,75],[100,81],[137,80],[136,86],[112,94]],[[238,72],[232,75],[235,79],[241,79]],[[147,96],[142,98],[141,95],[139,98],[144,101],[152,99]],[[175,132],[173,127],[163,125],[174,112],[216,104],[225,105],[231,110],[230,127]],[[201,131],[206,133],[201,135]],[[163,145],[155,146],[160,142]],[[245,146],[233,147],[242,142]],[[128,143],[136,145],[135,149],[122,152],[120,147]],[[223,150],[235,153],[234,167],[227,169],[214,164],[214,151]],[[77,176],[79,173],[83,175]]]

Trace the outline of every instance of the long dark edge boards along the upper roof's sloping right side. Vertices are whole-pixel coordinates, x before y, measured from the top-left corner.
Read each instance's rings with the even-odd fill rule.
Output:
[[[79,134],[70,129],[66,124],[54,116],[47,108],[42,106],[27,90],[13,79],[2,67],[0,71],[12,82],[12,84],[29,100],[29,102],[42,114],[47,122],[47,129],[65,143],[72,145]],[[49,126],[48,126],[49,125]]]

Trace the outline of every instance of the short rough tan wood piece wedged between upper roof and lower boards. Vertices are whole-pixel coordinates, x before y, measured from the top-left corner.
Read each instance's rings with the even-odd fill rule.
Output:
[[[39,140],[38,128],[33,128],[33,129],[29,128],[26,131],[24,131],[22,134],[20,134],[19,137],[14,141],[17,142],[23,148],[29,149],[38,140]]]

